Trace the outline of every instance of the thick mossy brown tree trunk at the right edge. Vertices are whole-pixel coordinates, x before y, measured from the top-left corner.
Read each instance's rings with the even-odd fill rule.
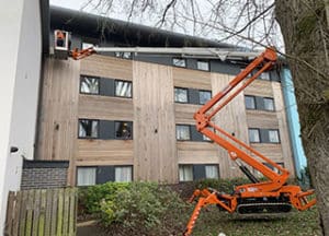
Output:
[[[327,5],[326,5],[327,3]],[[329,235],[329,31],[327,0],[275,0],[296,90],[302,139],[320,217]],[[327,11],[326,11],[327,10]]]

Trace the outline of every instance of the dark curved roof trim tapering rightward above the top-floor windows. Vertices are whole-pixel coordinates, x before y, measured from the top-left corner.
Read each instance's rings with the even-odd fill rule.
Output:
[[[105,37],[105,40],[125,37],[129,39],[131,46],[236,48],[234,45],[50,5],[50,28],[56,27],[87,37]]]

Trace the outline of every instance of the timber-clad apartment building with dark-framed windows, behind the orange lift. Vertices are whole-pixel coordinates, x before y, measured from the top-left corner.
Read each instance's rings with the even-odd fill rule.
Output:
[[[69,20],[69,21],[68,21]],[[231,45],[50,9],[50,36],[72,47],[217,47]],[[50,37],[50,44],[53,38]],[[227,152],[195,129],[193,114],[250,61],[181,55],[104,52],[44,60],[37,160],[68,160],[69,184],[190,181],[240,176]],[[281,69],[263,73],[215,118],[236,138],[294,170]],[[252,169],[251,169],[252,170]],[[256,172],[256,170],[252,170]]]

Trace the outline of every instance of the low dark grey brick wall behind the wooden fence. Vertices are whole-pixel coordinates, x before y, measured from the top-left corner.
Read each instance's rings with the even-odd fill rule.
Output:
[[[21,189],[67,186],[68,161],[24,161]]]

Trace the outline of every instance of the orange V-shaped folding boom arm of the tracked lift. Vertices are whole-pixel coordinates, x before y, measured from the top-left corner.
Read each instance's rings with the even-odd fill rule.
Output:
[[[204,135],[208,137],[211,140],[226,149],[229,156],[234,161],[240,160],[269,178],[269,182],[253,185],[254,188],[258,188],[261,191],[269,191],[280,188],[285,184],[285,180],[288,177],[288,172],[216,126],[212,121],[212,118],[252,81],[254,81],[262,72],[271,68],[275,61],[275,51],[272,48],[266,49],[262,55],[257,57],[243,71],[241,71],[232,81],[230,81],[222,92],[216,94],[211,101],[208,101],[194,114],[197,131],[202,132]],[[251,74],[253,69],[259,68],[260,66],[261,69],[256,74],[248,76]],[[281,174],[273,172],[263,163],[268,163],[271,166],[277,168]],[[240,162],[238,162],[238,164],[240,168],[243,168],[243,165]],[[251,175],[251,173],[249,174]],[[257,179],[253,179],[253,181],[256,182]],[[248,188],[240,190],[243,192],[248,192]],[[254,192],[254,189],[252,189],[252,191]]]

